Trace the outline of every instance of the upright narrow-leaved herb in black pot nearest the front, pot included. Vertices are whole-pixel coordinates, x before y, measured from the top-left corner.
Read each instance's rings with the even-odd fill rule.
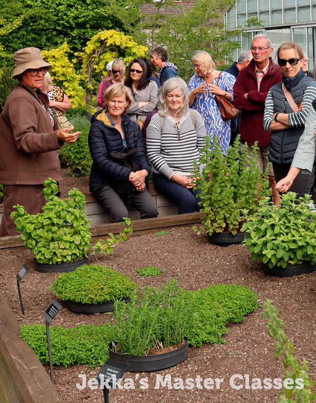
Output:
[[[176,280],[160,289],[145,286],[130,302],[115,301],[110,358],[128,364],[128,371],[169,368],[186,359],[189,329],[195,320],[195,299]]]

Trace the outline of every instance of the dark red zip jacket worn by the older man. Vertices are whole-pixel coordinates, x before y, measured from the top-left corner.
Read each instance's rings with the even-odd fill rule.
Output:
[[[247,67],[240,70],[233,87],[234,106],[243,111],[240,136],[241,142],[253,145],[256,141],[259,147],[270,145],[270,131],[264,129],[265,101],[268,91],[275,84],[282,82],[280,66],[269,58],[269,69],[262,77],[258,91],[255,62],[252,59]],[[248,93],[248,98],[244,94]]]

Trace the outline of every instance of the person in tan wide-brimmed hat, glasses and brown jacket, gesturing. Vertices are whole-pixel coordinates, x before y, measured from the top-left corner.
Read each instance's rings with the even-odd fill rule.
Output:
[[[13,55],[11,78],[18,80],[0,115],[0,183],[3,183],[4,213],[0,236],[17,235],[10,218],[13,206],[20,204],[30,214],[46,203],[43,181],[62,180],[57,150],[64,142],[75,142],[80,131],[57,130],[48,110],[48,97],[40,92],[43,77],[51,68],[36,47]]]

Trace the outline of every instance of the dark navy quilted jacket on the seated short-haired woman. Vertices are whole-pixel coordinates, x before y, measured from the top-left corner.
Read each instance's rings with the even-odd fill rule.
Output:
[[[148,158],[145,152],[142,132],[139,125],[122,115],[126,145],[136,148],[134,154],[142,169],[150,174]],[[90,175],[90,190],[102,183],[112,184],[117,180],[127,180],[131,170],[113,160],[111,151],[121,151],[123,142],[120,132],[113,126],[104,110],[97,112],[91,118],[88,136],[90,153],[93,164]]]

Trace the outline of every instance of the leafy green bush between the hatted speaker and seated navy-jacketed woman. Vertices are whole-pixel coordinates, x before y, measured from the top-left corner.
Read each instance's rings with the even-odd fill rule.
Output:
[[[81,135],[74,143],[64,144],[59,151],[60,160],[76,168],[86,175],[90,175],[92,157],[88,145],[88,134],[90,130],[90,120],[86,117],[86,111],[80,108],[71,109],[66,113],[68,120],[73,124],[75,130],[80,130]]]

